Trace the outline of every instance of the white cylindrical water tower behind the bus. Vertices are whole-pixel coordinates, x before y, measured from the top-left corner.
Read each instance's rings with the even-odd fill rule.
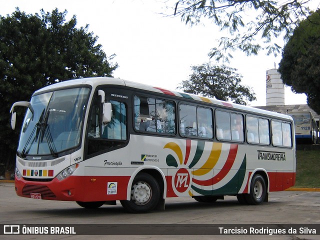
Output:
[[[274,68],[266,70],[266,105],[284,105],[284,84],[281,80],[281,74]]]

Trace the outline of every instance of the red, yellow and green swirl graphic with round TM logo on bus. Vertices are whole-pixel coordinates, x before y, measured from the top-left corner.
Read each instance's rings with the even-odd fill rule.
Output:
[[[238,192],[245,176],[246,157],[235,162],[237,144],[196,141],[195,148],[194,141],[185,141],[185,149],[175,142],[163,147],[175,153],[166,156],[166,164],[177,169],[172,174],[172,188],[177,196],[186,191],[189,195]]]

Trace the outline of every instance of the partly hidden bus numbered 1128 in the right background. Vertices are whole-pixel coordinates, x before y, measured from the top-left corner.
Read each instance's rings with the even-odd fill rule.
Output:
[[[318,126],[310,111],[289,111],[287,115],[293,118],[297,144],[318,142]]]

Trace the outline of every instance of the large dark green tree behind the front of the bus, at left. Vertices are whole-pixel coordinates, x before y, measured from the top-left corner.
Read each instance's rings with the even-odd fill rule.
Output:
[[[109,62],[113,55],[107,57],[96,44],[97,36],[88,25],[75,27],[75,15],[66,21],[66,13],[41,9],[33,15],[16,8],[11,15],[0,16],[0,161],[12,162],[11,168],[18,139],[17,131],[9,127],[13,102],[28,100],[34,90],[58,81],[112,76],[117,67]],[[22,110],[17,114],[22,120]]]

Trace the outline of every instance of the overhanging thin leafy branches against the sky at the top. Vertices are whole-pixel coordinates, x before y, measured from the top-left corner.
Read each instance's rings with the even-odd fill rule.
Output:
[[[218,47],[208,55],[216,60],[229,61],[230,51],[240,49],[247,55],[265,50],[277,55],[280,43],[277,37],[288,39],[301,17],[308,14],[309,0],[175,0],[171,7],[174,16],[180,16],[186,24],[199,24],[212,20],[220,31],[227,31],[232,38],[223,36]],[[263,42],[261,41],[263,40]]]

